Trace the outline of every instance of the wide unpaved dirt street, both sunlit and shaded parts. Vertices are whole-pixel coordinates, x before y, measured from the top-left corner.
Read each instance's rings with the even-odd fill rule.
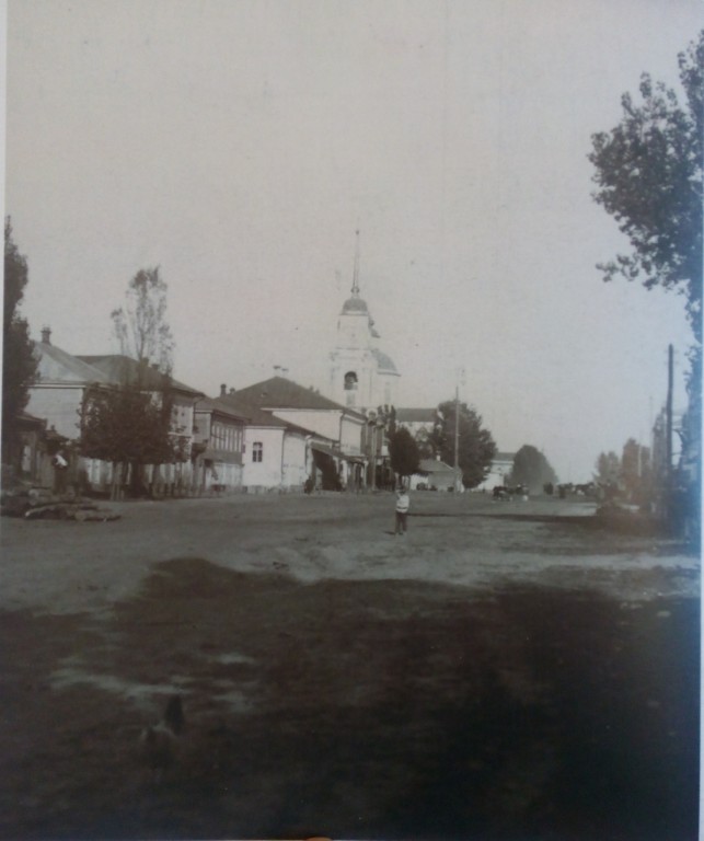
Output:
[[[390,494],[111,507],[1,523],[1,838],[697,837],[676,543],[469,494],[405,537]]]

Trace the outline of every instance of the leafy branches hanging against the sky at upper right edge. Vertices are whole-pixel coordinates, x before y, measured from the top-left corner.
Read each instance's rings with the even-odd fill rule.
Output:
[[[600,265],[604,279],[623,275],[650,289],[686,298],[686,313],[702,339],[702,155],[704,31],[679,55],[686,102],[673,90],[640,78],[642,102],[622,96],[621,123],[592,136],[595,200],[614,217],[632,253]]]

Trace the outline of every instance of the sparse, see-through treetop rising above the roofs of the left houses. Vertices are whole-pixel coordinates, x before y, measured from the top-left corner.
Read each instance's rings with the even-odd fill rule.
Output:
[[[125,307],[111,313],[122,353],[164,372],[171,370],[174,348],[165,321],[166,291],[159,266],[142,268],[129,281]]]

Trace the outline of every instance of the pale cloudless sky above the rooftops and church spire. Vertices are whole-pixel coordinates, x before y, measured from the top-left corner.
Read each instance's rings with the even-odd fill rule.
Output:
[[[32,334],[117,353],[160,266],[174,376],[325,390],[359,230],[401,406],[454,396],[562,481],[649,443],[683,299],[591,198],[643,71],[679,89],[700,0],[8,0],[4,211]]]

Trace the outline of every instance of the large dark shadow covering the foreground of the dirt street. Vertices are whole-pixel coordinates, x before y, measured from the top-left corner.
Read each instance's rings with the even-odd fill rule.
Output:
[[[694,599],[181,558],[102,619],[1,620],[3,838],[696,838]]]

